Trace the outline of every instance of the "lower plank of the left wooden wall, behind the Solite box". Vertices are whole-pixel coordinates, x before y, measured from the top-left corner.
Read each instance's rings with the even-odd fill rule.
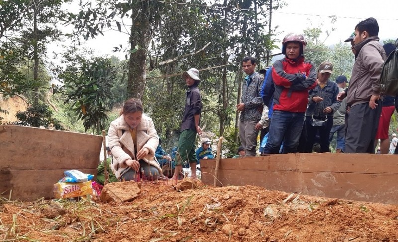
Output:
[[[88,174],[97,174],[95,169],[81,169]],[[53,185],[64,177],[64,170],[6,170],[0,171],[1,196],[11,200],[35,201],[54,198]]]

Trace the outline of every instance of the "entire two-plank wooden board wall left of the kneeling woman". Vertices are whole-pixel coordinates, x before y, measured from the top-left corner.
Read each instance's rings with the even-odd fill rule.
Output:
[[[0,195],[12,200],[52,198],[64,171],[97,175],[102,137],[0,125]]]

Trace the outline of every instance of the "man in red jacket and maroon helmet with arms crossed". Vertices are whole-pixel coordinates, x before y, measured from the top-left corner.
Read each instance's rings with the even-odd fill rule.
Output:
[[[308,91],[316,86],[316,67],[305,60],[307,42],[302,34],[289,33],[282,41],[285,58],[275,61],[272,80],[275,91],[269,138],[263,154],[296,153],[304,126]]]

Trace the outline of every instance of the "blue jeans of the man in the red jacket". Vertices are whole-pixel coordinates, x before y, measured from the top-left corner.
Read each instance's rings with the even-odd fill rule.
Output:
[[[304,115],[305,113],[274,110],[264,153],[279,154],[282,141],[284,142],[282,153],[296,153],[298,140],[304,126]]]

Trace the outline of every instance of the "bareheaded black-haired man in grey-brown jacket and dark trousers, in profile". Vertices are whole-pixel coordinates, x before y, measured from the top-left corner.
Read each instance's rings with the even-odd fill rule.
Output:
[[[340,101],[347,96],[345,152],[375,153],[374,139],[382,109],[379,78],[386,53],[379,43],[376,19],[359,22],[354,34],[356,54],[350,87],[337,96]]]

